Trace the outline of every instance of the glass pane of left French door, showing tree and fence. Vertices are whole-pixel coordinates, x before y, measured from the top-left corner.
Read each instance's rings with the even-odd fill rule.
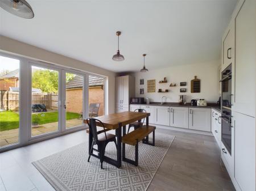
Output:
[[[59,129],[59,71],[32,66],[31,135]]]

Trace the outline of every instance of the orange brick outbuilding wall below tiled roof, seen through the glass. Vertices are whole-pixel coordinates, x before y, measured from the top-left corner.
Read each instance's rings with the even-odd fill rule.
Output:
[[[82,112],[82,88],[66,91],[67,111],[74,113]],[[104,114],[104,90],[101,87],[89,87],[89,104],[100,103],[99,116]]]

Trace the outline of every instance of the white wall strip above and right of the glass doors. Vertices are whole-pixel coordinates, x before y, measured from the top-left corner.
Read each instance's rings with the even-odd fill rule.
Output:
[[[33,58],[39,61],[55,63],[62,66],[67,66],[72,69],[78,69],[83,71],[88,71],[94,74],[104,75],[108,77],[108,108],[109,113],[114,113],[115,111],[115,73],[109,70],[102,69],[97,66],[90,65],[89,63],[81,62],[73,58],[63,56],[61,54],[56,54],[32,46],[20,41],[10,39],[5,36],[0,35],[0,50],[7,53],[18,54],[19,56],[25,56],[28,58]]]

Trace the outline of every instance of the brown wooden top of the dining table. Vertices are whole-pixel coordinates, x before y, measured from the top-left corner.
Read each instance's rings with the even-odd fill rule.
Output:
[[[121,112],[121,113],[113,113],[107,114],[105,116],[94,117],[97,120],[100,120],[105,128],[108,129],[117,129],[119,128],[119,123],[122,126],[130,124],[131,122],[141,120],[142,118],[146,118],[150,116],[150,113],[142,113],[142,112]],[[86,120],[84,120],[86,124]],[[102,126],[99,122],[96,122],[97,126]]]

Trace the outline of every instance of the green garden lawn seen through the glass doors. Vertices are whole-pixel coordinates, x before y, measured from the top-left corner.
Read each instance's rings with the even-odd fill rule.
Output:
[[[73,118],[79,118],[79,113],[67,112],[67,120],[72,120]],[[48,124],[49,122],[58,121],[58,112],[43,112],[38,114],[32,114],[32,122],[39,118],[39,124]],[[0,131],[10,130],[19,128],[19,114],[15,112],[0,112]]]

